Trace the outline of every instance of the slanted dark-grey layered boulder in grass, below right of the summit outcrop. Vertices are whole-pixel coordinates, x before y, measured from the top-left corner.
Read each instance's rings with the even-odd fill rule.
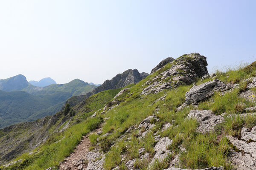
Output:
[[[188,92],[186,92],[185,104],[195,105],[212,96],[215,91],[227,91],[232,87],[231,84],[225,84],[218,79],[202,83],[201,85],[194,85]]]

